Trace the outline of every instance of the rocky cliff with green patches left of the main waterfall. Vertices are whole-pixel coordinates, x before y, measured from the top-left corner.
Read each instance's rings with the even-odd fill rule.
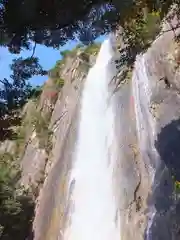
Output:
[[[65,224],[80,97],[96,48],[77,48],[65,56],[56,69],[58,78],[49,78],[41,95],[25,105],[17,139],[0,145],[2,155],[10,153],[20,163],[19,183],[36,202],[33,239],[57,239]]]

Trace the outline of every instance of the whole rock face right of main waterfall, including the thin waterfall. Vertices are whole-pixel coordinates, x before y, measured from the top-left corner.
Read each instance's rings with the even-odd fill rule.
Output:
[[[114,95],[123,240],[180,238],[178,59],[179,45],[167,31]]]

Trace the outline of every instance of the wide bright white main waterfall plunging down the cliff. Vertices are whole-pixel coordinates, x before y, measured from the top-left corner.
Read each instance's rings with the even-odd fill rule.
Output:
[[[101,46],[82,96],[77,147],[70,182],[73,211],[65,240],[119,240],[113,190],[114,113],[108,84],[116,73],[112,38]]]

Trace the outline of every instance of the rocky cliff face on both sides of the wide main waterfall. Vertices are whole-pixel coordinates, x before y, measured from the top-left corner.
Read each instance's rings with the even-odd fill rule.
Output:
[[[179,239],[179,58],[174,32],[167,31],[137,58],[133,72],[124,77],[119,71],[112,83],[117,216],[123,240]],[[63,239],[81,93],[93,62],[81,53],[67,57],[59,69],[63,88],[49,79],[37,107],[30,101],[24,109],[21,184],[31,186],[35,195],[35,240]],[[38,115],[27,127],[35,108],[43,118]],[[6,142],[1,149],[10,151],[11,145]]]

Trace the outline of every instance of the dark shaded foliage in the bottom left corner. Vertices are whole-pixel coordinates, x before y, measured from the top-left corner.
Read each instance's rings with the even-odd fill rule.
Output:
[[[11,199],[7,199],[7,197],[11,197]],[[5,202],[2,203],[2,200]],[[14,199],[11,193],[3,191],[0,193],[0,208],[0,239],[34,239],[32,223],[35,205],[30,197],[19,196]]]

